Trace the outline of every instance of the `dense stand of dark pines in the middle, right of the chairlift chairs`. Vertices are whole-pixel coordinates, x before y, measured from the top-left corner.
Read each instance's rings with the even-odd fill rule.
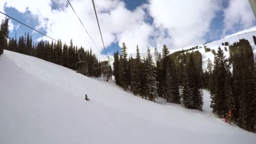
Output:
[[[137,45],[136,58],[128,58],[127,47],[123,43],[121,53],[117,51],[114,54],[115,83],[151,101],[160,96],[167,102],[202,110],[201,53],[169,53],[166,45],[163,45],[162,54],[155,48],[154,62],[147,48],[146,58],[141,59]]]

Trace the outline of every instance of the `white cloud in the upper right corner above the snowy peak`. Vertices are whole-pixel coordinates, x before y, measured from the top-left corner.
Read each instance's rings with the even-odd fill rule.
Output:
[[[253,26],[255,17],[248,0],[229,0],[224,12],[224,31],[237,32]]]

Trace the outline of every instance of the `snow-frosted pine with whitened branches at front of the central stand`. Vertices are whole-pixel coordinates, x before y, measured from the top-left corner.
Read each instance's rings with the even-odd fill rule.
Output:
[[[146,59],[146,95],[149,97],[150,101],[155,101],[157,95],[157,82],[155,80],[154,68],[152,56],[150,54],[150,49],[147,48],[147,59]]]

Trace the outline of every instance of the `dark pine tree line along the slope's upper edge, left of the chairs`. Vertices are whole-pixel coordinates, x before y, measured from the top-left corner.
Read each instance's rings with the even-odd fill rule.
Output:
[[[72,39],[69,45],[61,43],[61,40],[57,42],[49,42],[48,40],[40,40],[38,42],[32,41],[32,36],[29,33],[25,33],[24,36],[8,37],[8,18],[2,21],[0,25],[0,52],[3,53],[3,49],[8,51],[14,51],[29,56],[35,56],[45,61],[50,61],[54,64],[59,64],[63,67],[75,70],[75,64],[80,61],[78,55],[80,55],[81,61],[87,62],[88,76],[99,77],[100,68],[93,69],[93,64],[99,64],[99,60],[92,52],[92,50],[85,50],[82,46],[77,47],[73,45]]]

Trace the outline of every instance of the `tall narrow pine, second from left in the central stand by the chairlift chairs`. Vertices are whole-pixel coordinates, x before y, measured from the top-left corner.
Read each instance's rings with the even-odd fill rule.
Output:
[[[122,44],[121,48],[121,55],[122,55],[122,61],[121,61],[121,76],[120,76],[120,82],[122,85],[122,88],[124,90],[128,89],[128,61],[127,61],[127,48],[125,43]]]

